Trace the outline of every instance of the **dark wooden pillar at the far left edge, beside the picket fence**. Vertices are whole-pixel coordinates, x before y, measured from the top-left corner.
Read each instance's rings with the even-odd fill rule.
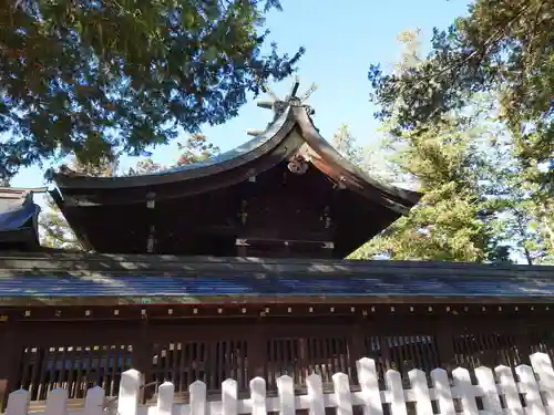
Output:
[[[17,325],[13,323],[0,323],[0,412],[6,409],[8,396],[17,391],[19,371],[21,365],[21,344],[17,336]]]

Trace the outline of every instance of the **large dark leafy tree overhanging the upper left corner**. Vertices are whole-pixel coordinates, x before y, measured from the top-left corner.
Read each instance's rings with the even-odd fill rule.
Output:
[[[278,0],[0,0],[0,179],[75,155],[101,165],[236,116],[304,52],[261,53]]]

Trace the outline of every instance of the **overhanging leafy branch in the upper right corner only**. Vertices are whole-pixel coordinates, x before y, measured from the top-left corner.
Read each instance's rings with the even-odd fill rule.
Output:
[[[534,137],[520,143],[535,157],[552,156],[554,1],[478,0],[447,31],[434,31],[428,59],[408,71],[383,75],[372,65],[373,98],[391,108],[402,128],[417,128],[460,108],[475,92],[501,93],[501,117],[512,133],[533,122]]]

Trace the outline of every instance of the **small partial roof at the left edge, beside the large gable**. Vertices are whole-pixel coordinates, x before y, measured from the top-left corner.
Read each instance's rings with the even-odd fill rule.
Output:
[[[12,245],[38,245],[40,207],[34,204],[32,195],[45,190],[0,187],[0,249]]]

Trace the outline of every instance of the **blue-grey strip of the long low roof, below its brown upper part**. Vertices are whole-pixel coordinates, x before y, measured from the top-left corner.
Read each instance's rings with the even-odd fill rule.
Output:
[[[552,297],[554,279],[268,277],[254,276],[13,276],[0,278],[0,297]]]

